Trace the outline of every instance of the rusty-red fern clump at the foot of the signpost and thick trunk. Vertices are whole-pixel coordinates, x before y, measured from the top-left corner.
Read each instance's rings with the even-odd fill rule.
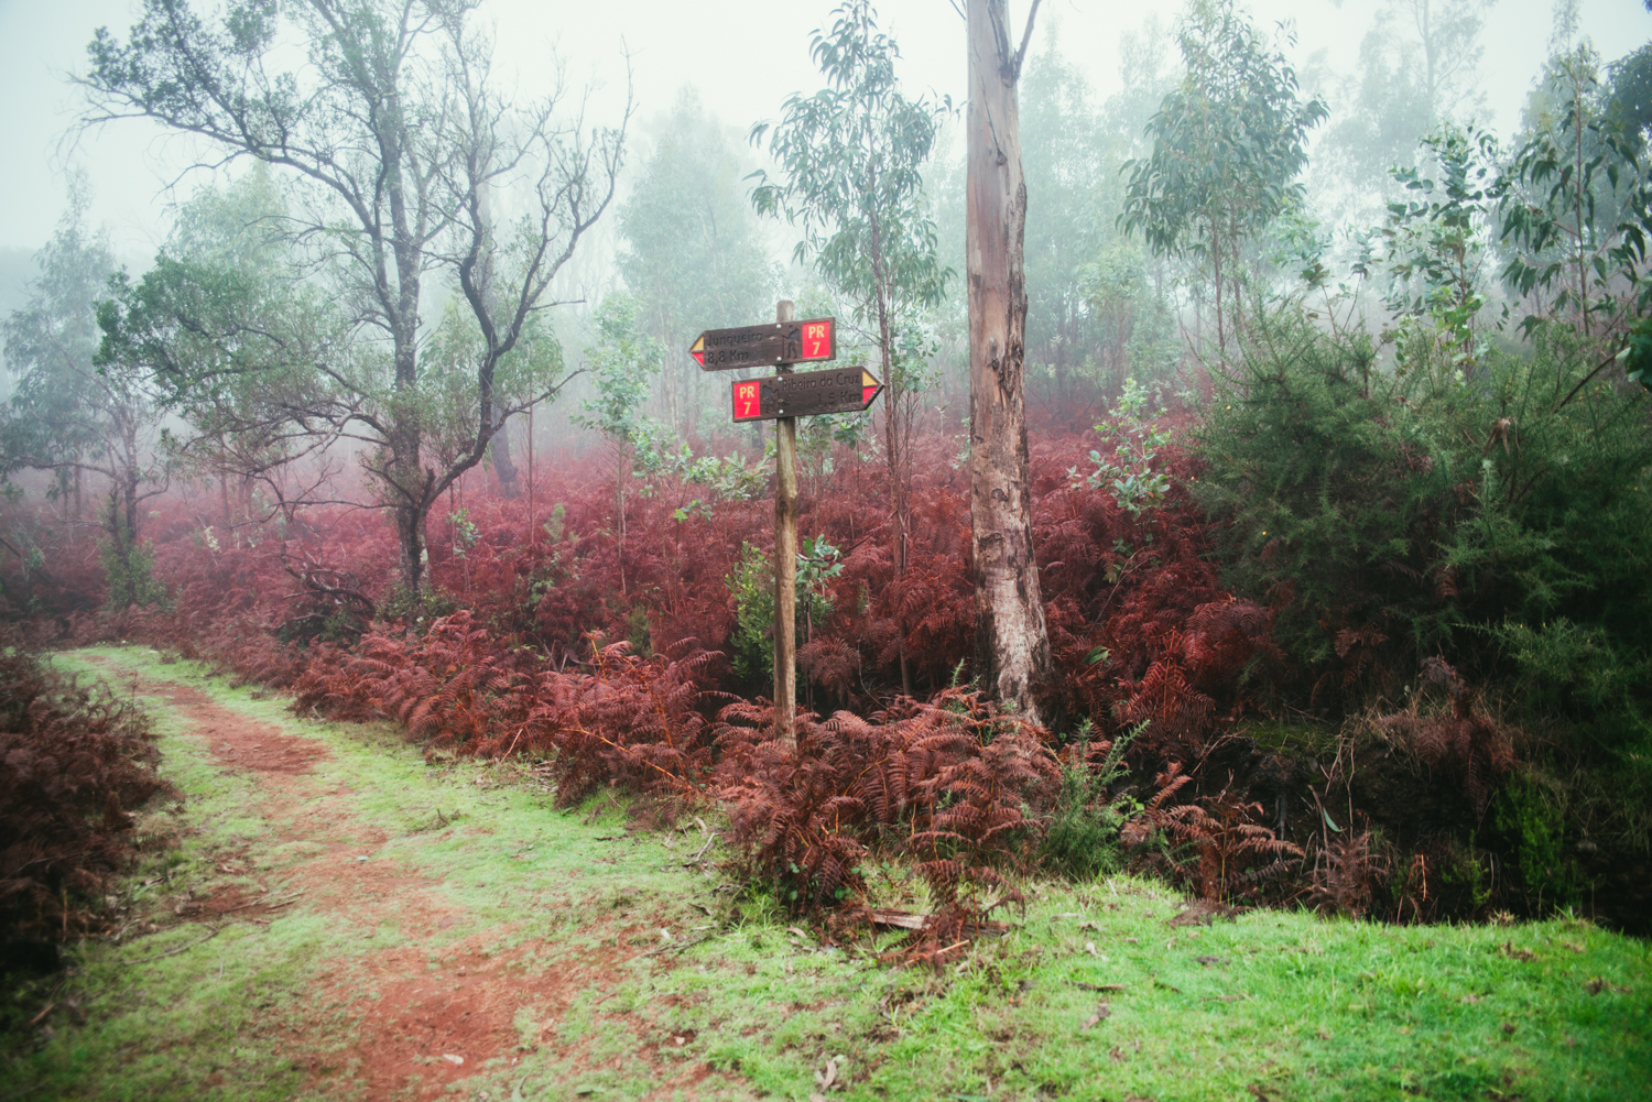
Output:
[[[796,753],[771,724],[771,707],[742,702],[719,725],[719,795],[748,874],[818,907],[864,887],[871,848],[909,853],[937,904],[919,953],[1019,900],[1011,877],[1037,849],[1059,778],[1041,729],[960,689],[871,719],[803,717]]]

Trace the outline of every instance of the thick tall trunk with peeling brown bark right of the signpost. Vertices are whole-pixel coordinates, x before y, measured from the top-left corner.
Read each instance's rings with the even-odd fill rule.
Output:
[[[1004,0],[970,0],[968,43],[965,269],[975,666],[999,702],[1037,719],[1036,697],[1049,679],[1049,638],[1032,558],[1028,463],[1023,268],[1028,195],[1016,106],[1021,55],[1006,25]]]

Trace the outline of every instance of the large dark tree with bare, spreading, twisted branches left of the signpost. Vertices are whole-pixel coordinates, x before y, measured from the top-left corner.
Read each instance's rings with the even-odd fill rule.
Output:
[[[512,411],[497,408],[499,363],[553,304],[552,281],[613,200],[629,121],[629,104],[615,127],[567,117],[560,81],[542,101],[506,99],[489,71],[492,45],[472,26],[476,7],[259,0],[208,17],[188,0],[142,0],[124,41],[97,31],[78,78],[86,126],[149,119],[226,162],[287,173],[291,233],[314,251],[347,335],[347,347],[329,340],[284,360],[282,378],[302,370],[319,393],[292,425],[363,444],[413,591],[425,520]],[[512,200],[520,215],[494,218],[491,198]],[[482,349],[469,446],[439,471],[425,448],[431,395],[418,355],[426,279],[438,273],[468,306]],[[178,368],[183,390],[205,392],[225,372],[256,387],[263,370],[246,359]]]

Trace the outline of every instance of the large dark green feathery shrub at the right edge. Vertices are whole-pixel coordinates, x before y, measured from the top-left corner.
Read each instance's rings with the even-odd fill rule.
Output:
[[[1403,345],[1285,309],[1216,375],[1194,489],[1227,583],[1277,610],[1322,704],[1439,654],[1531,715],[1644,737],[1622,717],[1652,704],[1647,392],[1559,329],[1467,368]]]

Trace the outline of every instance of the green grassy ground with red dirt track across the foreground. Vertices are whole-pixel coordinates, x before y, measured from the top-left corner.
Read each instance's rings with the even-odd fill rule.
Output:
[[[943,971],[829,948],[600,796],[294,717],[154,651],[55,659],[155,715],[182,803],[121,930],[26,991],[12,1099],[1649,1099],[1652,948],[1576,920],[1209,917],[1032,886]],[[882,869],[900,900],[915,882]],[[910,905],[922,899],[907,894]]]

